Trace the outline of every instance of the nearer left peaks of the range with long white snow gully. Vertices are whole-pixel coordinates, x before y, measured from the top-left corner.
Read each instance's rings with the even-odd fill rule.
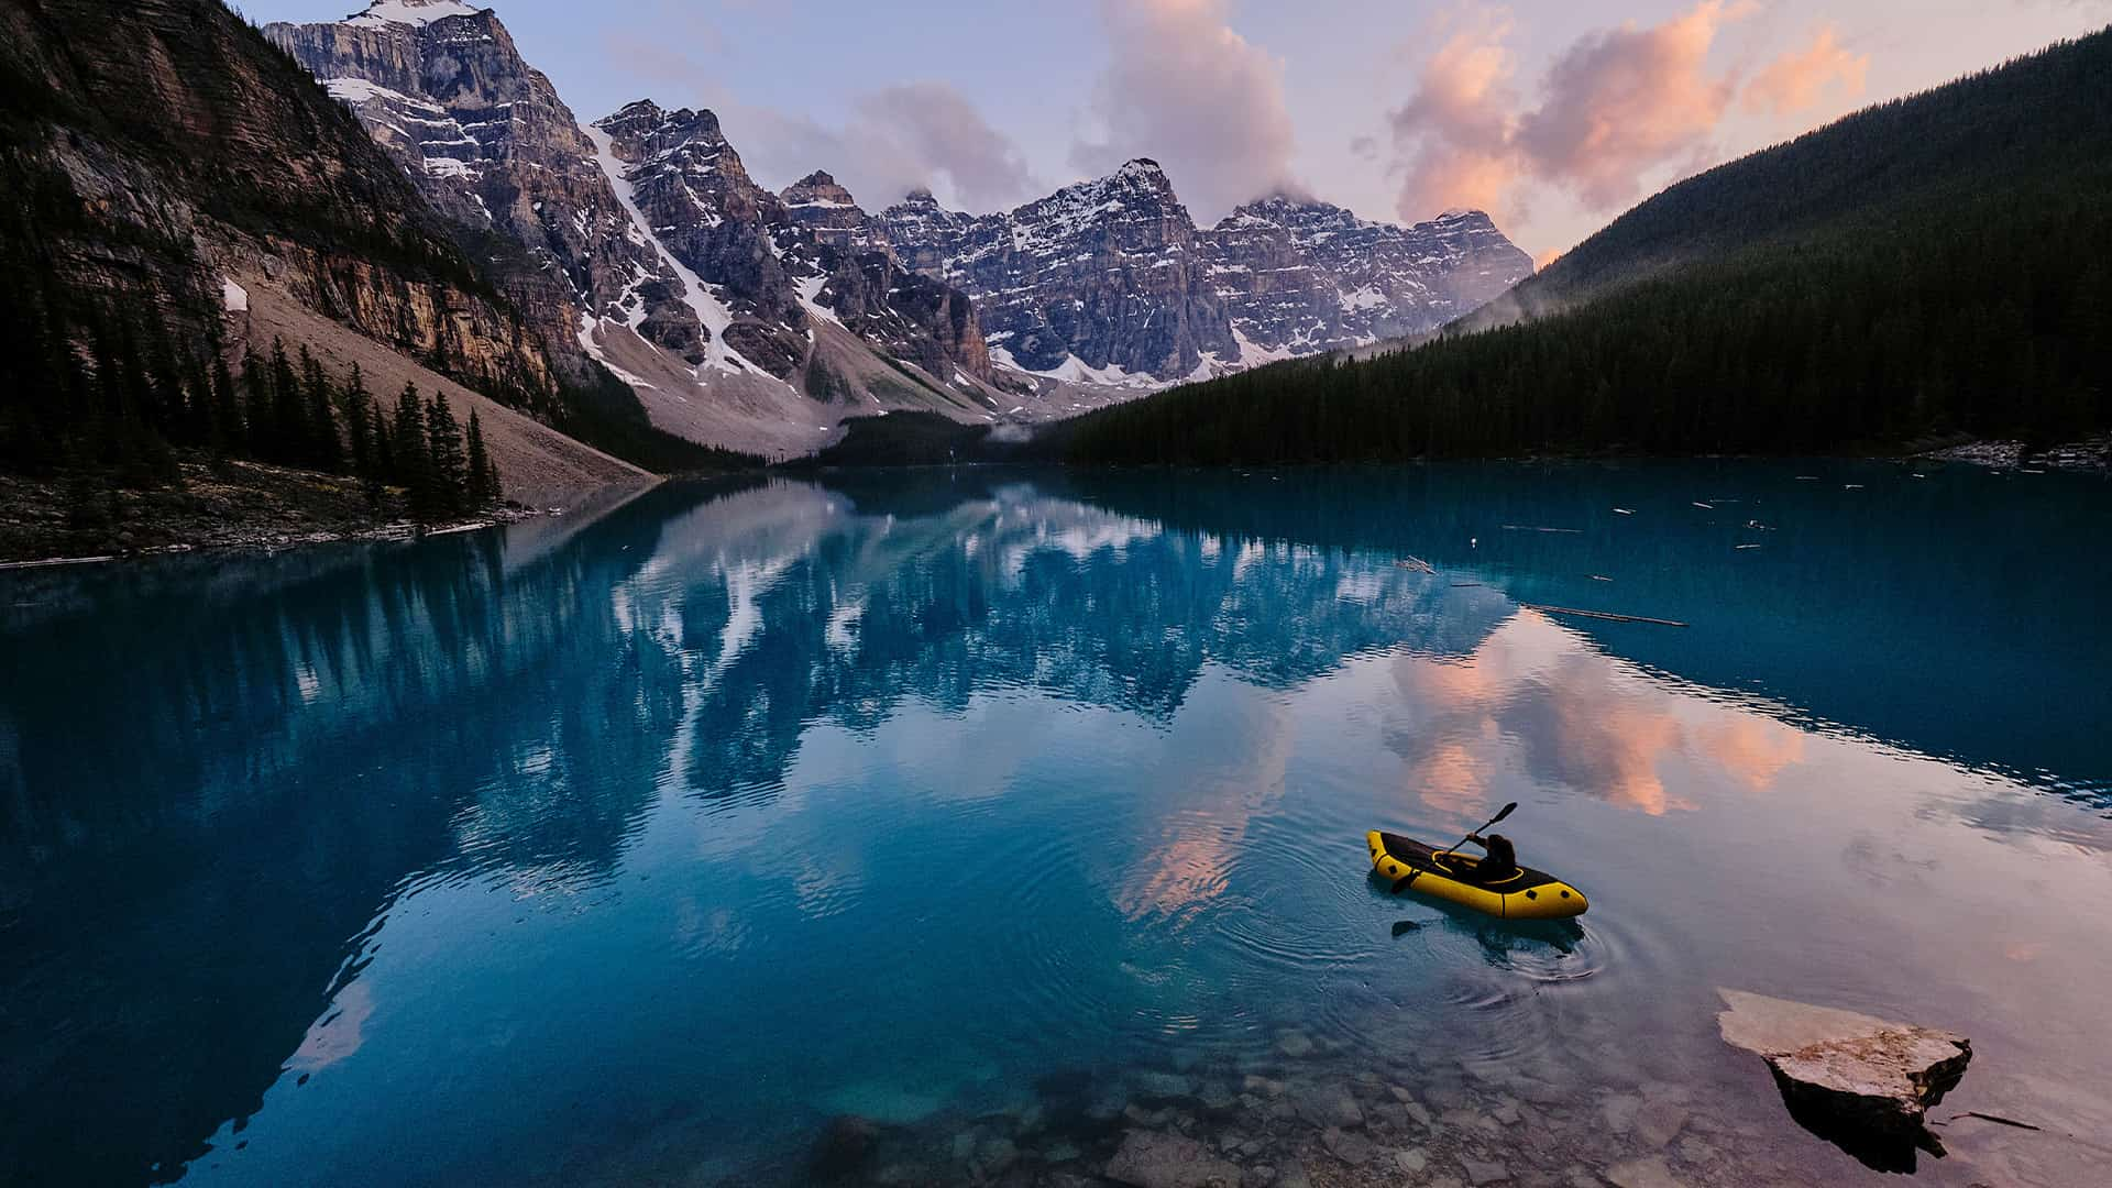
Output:
[[[344,21],[266,36],[351,106],[452,235],[490,260],[486,273],[560,366],[608,364],[655,419],[693,410],[682,393],[695,387],[716,395],[731,421],[714,425],[729,427],[813,431],[803,387],[855,404],[885,389],[953,414],[991,404],[978,385],[995,372],[969,298],[895,262],[826,173],[786,199],[758,186],[712,112],[640,101],[581,127],[498,17],[458,0],[374,0]],[[855,340],[824,349],[817,321]],[[898,364],[931,383],[887,378]]]

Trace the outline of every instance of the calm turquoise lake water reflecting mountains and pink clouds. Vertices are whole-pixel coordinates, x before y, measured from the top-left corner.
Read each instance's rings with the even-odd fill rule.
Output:
[[[2040,1131],[1920,1177],[2097,1182],[2108,539],[1975,467],[919,471],[0,575],[0,1182],[1318,1175],[1269,1084],[1430,1175],[1875,1180],[1719,985],[1968,1034],[1935,1116]],[[1580,928],[1366,877],[1512,799]]]

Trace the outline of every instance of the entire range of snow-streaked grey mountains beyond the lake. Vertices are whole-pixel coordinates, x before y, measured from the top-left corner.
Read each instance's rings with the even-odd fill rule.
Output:
[[[1271,197],[1198,228],[1151,161],[1001,214],[828,173],[762,188],[712,112],[591,125],[490,8],[376,0],[266,27],[386,148],[507,294],[663,429],[807,450],[843,416],[1041,419],[1434,330],[1531,275],[1487,216],[1413,228]],[[826,163],[817,163],[826,165]],[[507,254],[492,254],[494,264]]]

